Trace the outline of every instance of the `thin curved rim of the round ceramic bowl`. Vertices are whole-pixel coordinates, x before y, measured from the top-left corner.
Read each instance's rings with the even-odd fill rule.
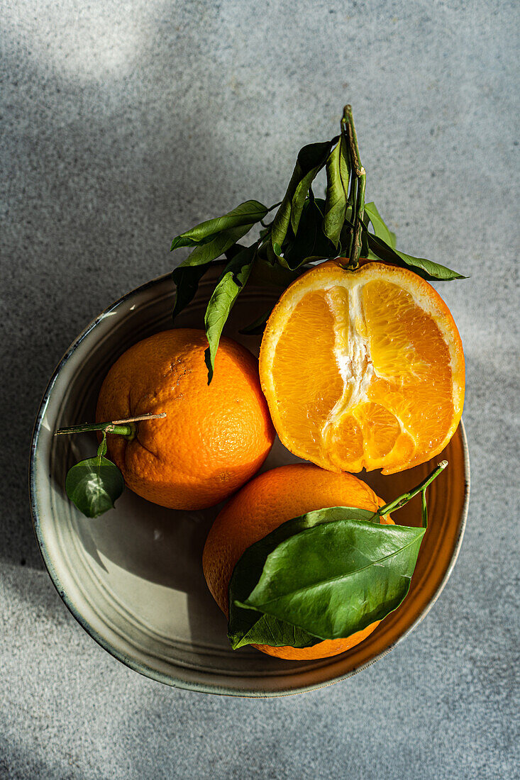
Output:
[[[94,629],[93,626],[91,626],[90,622],[83,615],[81,615],[80,612],[77,610],[77,608],[74,606],[72,599],[66,593],[65,587],[62,586],[59,573],[56,571],[55,567],[52,564],[51,557],[48,554],[48,550],[45,545],[45,539],[41,532],[41,521],[40,521],[40,516],[38,514],[37,485],[36,485],[36,452],[37,452],[37,445],[38,445],[38,440],[41,431],[41,423],[45,415],[45,411],[47,410],[48,400],[52,393],[52,389],[54,388],[55,381],[58,378],[60,372],[62,371],[62,368],[65,366],[65,364],[67,363],[69,358],[73,355],[73,353],[76,351],[80,343],[84,341],[87,335],[92,330],[94,330],[96,325],[100,321],[102,321],[102,319],[104,319],[108,314],[110,314],[113,310],[119,307],[122,303],[125,303],[127,300],[130,300],[130,298],[132,298],[137,293],[144,293],[145,290],[151,289],[156,285],[166,282],[168,278],[171,279],[171,274],[163,274],[151,279],[149,282],[145,282],[143,285],[139,285],[138,287],[130,290],[130,292],[119,297],[116,301],[111,303],[109,307],[103,310],[101,314],[98,314],[97,317],[94,317],[94,319],[92,319],[91,322],[87,324],[87,326],[83,329],[83,331],[80,332],[77,338],[74,339],[73,342],[71,342],[68,349],[66,349],[66,352],[63,354],[61,360],[59,360],[59,363],[55,367],[55,370],[52,372],[52,377],[48,381],[48,385],[45,388],[45,392],[41,399],[40,406],[38,407],[36,420],[34,421],[33,434],[31,437],[31,444],[30,444],[30,461],[29,461],[29,492],[30,492],[30,509],[32,514],[33,530],[37,539],[38,549],[40,551],[40,555],[44,562],[45,568],[47,569],[48,575],[52,580],[52,584],[54,585],[55,590],[57,590],[59,597],[62,599],[64,605],[69,610],[70,614],[73,615],[73,618],[76,619],[77,622],[80,624],[80,626],[86,631],[86,633],[89,636],[91,636],[91,638],[100,647],[102,647],[105,651],[107,651],[110,655],[112,655],[113,658],[116,658],[117,661],[120,661],[123,665],[133,669],[134,672],[138,672],[144,677],[153,679],[158,683],[165,683],[170,687],[182,688],[183,690],[194,690],[194,691],[198,691],[199,693],[212,693],[221,696],[244,697],[244,698],[255,698],[255,699],[292,696],[297,693],[307,693],[312,690],[320,690],[322,688],[335,685],[336,683],[340,683],[343,680],[358,674],[358,672],[362,672],[363,669],[368,668],[372,664],[375,664],[376,661],[379,661],[379,658],[383,658],[385,655],[390,653],[390,651],[392,651],[397,644],[399,644],[402,640],[404,640],[404,638],[408,636],[408,634],[410,634],[411,631],[413,631],[415,627],[418,626],[418,624],[422,622],[422,620],[429,613],[430,609],[433,607],[437,599],[440,597],[440,594],[444,590],[447,580],[449,580],[451,576],[455,563],[457,562],[458,555],[461,551],[462,539],[464,537],[465,527],[468,519],[469,492],[470,492],[470,481],[471,481],[468,440],[466,438],[465,427],[462,420],[460,421],[459,427],[461,430],[462,449],[464,452],[464,470],[465,470],[464,503],[462,506],[462,512],[458,523],[458,535],[454,544],[454,550],[451,556],[450,564],[449,566],[447,566],[447,569],[443,575],[442,580],[439,583],[439,586],[437,587],[429,603],[422,610],[421,614],[418,615],[415,621],[412,622],[410,626],[408,626],[408,629],[406,629],[406,631],[404,631],[404,633],[402,633],[397,640],[395,640],[392,644],[390,644],[383,651],[377,654],[374,658],[371,658],[369,661],[366,661],[364,664],[361,664],[358,667],[351,669],[349,672],[346,672],[344,675],[338,675],[336,678],[331,679],[326,683],[315,683],[315,684],[305,685],[305,686],[296,686],[294,688],[292,687],[280,688],[279,690],[272,690],[272,691],[271,690],[260,691],[260,690],[251,690],[251,689],[240,690],[240,689],[228,688],[226,686],[222,686],[218,684],[212,685],[209,683],[198,683],[186,679],[176,678],[173,675],[168,675],[164,672],[158,672],[158,670],[152,668],[151,666],[141,661],[136,661],[134,658],[131,658],[130,656],[126,655],[123,651],[118,650],[109,642],[108,639],[105,639],[105,637],[101,636],[98,633],[98,631]]]

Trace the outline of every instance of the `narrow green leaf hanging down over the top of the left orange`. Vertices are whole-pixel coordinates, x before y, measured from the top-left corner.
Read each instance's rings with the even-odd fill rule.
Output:
[[[212,381],[215,370],[215,355],[219,348],[220,335],[237,300],[238,293],[248,281],[256,249],[256,244],[246,246],[230,260],[209,299],[205,314],[206,336],[209,344],[205,351],[208,385]]]

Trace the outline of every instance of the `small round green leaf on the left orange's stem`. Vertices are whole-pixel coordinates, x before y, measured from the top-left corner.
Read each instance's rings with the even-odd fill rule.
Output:
[[[105,453],[106,434],[95,458],[81,460],[66,476],[66,493],[86,517],[98,517],[112,509],[125,487],[123,474],[103,457]]]

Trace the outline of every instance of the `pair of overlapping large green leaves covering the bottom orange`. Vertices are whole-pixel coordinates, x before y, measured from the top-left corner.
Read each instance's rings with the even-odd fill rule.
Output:
[[[232,644],[241,646],[248,636],[269,644],[269,632],[260,633],[262,616],[300,629],[307,639],[326,640],[350,636],[393,612],[408,594],[425,529],[375,520],[372,512],[351,507],[321,509],[251,545],[230,583]],[[287,635],[283,640],[291,644]]]

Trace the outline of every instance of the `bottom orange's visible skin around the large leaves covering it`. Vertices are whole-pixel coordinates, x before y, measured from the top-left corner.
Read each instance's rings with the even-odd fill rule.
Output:
[[[296,463],[280,466],[251,480],[231,498],[215,519],[202,554],[204,576],[212,596],[225,615],[229,611],[229,584],[244,551],[282,523],[305,512],[330,506],[379,509],[384,502],[367,484],[349,473],[333,473]],[[382,523],[393,523],[390,516]],[[345,639],[325,640],[314,647],[254,645],[276,658],[305,661],[328,658],[350,650],[369,636],[379,621]]]

